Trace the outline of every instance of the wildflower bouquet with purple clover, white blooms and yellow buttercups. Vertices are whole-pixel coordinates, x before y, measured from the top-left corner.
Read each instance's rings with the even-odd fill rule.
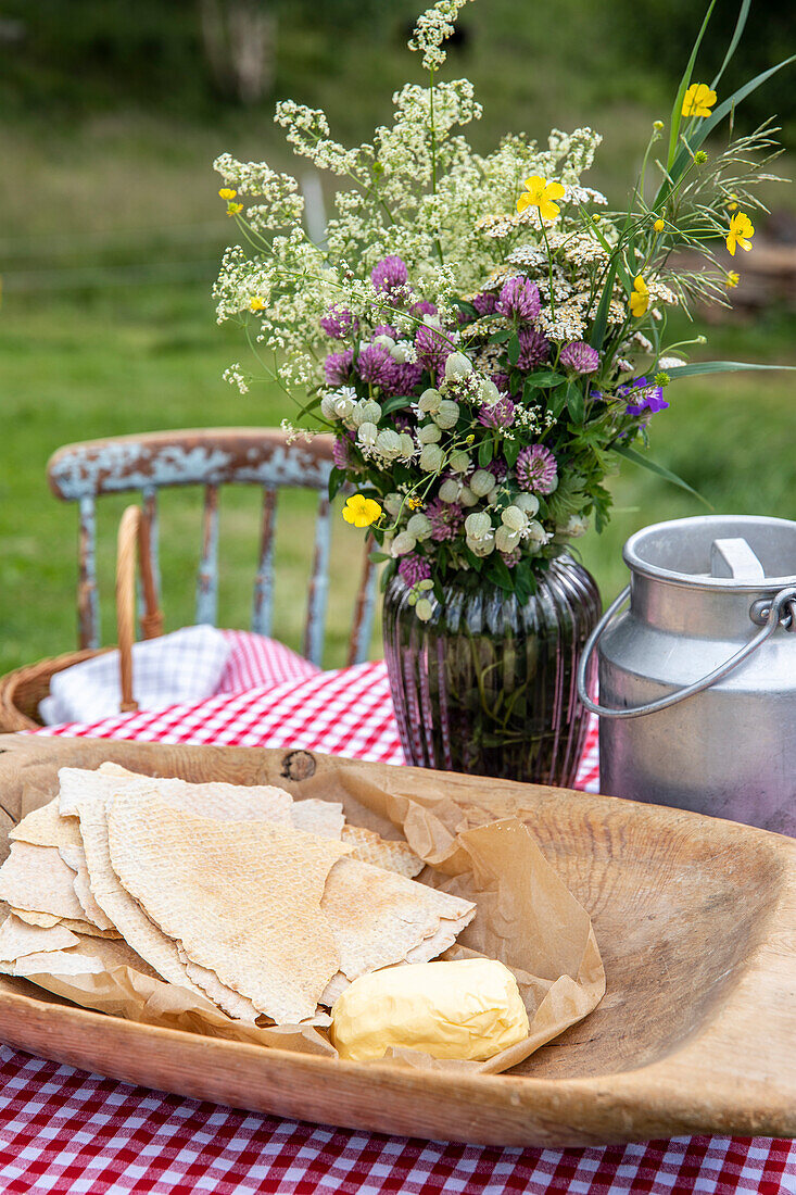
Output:
[[[332,495],[355,489],[344,517],[368,529],[421,619],[451,582],[526,601],[592,516],[605,525],[605,478],[623,458],[647,460],[637,446],[669,382],[748,368],[686,364],[696,342],[669,343],[667,313],[727,302],[737,275],[715,249],[751,250],[748,213],[776,152],[770,125],[702,148],[778,69],[721,103],[721,72],[692,82],[709,11],[668,139],[656,122],[624,212],[582,182],[601,141],[589,128],[553,130],[546,148],[510,134],[482,157],[458,131],[480,116],[471,84],[439,79],[464,2],[420,17],[409,45],[429,86],[399,91],[372,142],[344,148],[323,112],[277,105],[294,151],[345,182],[323,244],[305,231],[295,179],[215,163],[243,238],[215,287],[219,320],[241,320],[296,422],[333,433]],[[699,271],[678,264],[682,247],[702,255]],[[239,364],[227,376],[252,381]]]

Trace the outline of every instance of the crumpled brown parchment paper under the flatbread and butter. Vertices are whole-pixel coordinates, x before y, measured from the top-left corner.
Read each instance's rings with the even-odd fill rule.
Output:
[[[523,822],[512,817],[467,828],[467,813],[446,796],[439,782],[423,797],[403,795],[399,785],[399,768],[396,785],[388,791],[365,780],[351,767],[338,770],[333,779],[313,777],[302,782],[301,796],[342,802],[353,825],[375,829],[386,838],[405,836],[427,863],[421,882],[476,901],[474,919],[442,957],[483,955],[506,963],[516,976],[531,1031],[522,1042],[485,1062],[442,1061],[402,1049],[391,1050],[382,1064],[482,1073],[509,1070],[582,1021],[601,1000],[605,970],[590,919]],[[90,949],[90,939],[84,945]],[[226,1017],[209,1000],[130,967],[99,975],[25,978],[84,1007],[130,1021],[337,1056],[320,1028],[245,1025]]]

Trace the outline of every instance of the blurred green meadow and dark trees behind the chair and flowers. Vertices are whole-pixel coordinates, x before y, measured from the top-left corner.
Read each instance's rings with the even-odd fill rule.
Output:
[[[239,0],[250,17],[268,18],[257,29],[270,49],[253,80],[208,65],[208,22],[229,6],[233,0],[139,0],[135,7],[122,0],[0,0],[0,672],[75,642],[76,513],[53,498],[44,476],[59,446],[167,428],[278,424],[292,413],[278,392],[244,397],[221,381],[225,367],[247,350],[237,329],[216,325],[210,298],[232,234],[213,159],[222,151],[265,158],[302,178],[306,165],[290,158],[273,124],[275,99],[322,106],[335,134],[360,141],[388,120],[392,92],[421,78],[404,44],[421,0]],[[472,133],[478,147],[510,130],[541,140],[551,127],[592,125],[605,142],[587,180],[622,206],[651,121],[668,117],[675,71],[700,19],[680,0],[644,6],[641,24],[639,10],[630,0],[479,0],[465,8],[448,76],[472,79],[484,104]],[[718,4],[706,67],[694,78],[709,76],[721,61],[733,19],[734,5]],[[795,25],[790,5],[753,4],[754,33],[742,63],[748,74],[792,51]],[[667,51],[659,54],[663,42]],[[792,69],[783,75],[760,92],[753,118],[777,112],[792,151]],[[790,152],[779,165],[792,174]],[[773,214],[759,223],[755,249],[765,246],[774,264],[742,278],[733,293],[736,311],[711,313],[709,323],[697,313],[696,331],[682,320],[684,338],[698,331],[709,337],[698,354],[796,363],[792,184],[767,198]],[[734,268],[751,268],[753,257]],[[651,456],[716,511],[794,517],[792,378],[735,373],[678,384],[667,394],[671,409],[654,421]],[[620,550],[627,535],[705,509],[630,464],[613,492],[608,531],[580,541],[606,602],[625,583]],[[123,504],[100,503],[105,642],[115,638],[114,535]],[[314,498],[294,495],[280,509],[275,633],[294,646],[313,508]],[[172,491],[161,509],[164,605],[173,629],[192,620],[201,495]],[[224,491],[222,625],[249,621],[257,511],[253,491]],[[344,658],[360,553],[360,534],[339,520],[327,666]],[[373,654],[380,654],[375,637]]]

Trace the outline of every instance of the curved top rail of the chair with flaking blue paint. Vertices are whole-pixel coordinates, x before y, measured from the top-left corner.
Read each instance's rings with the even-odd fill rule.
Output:
[[[298,445],[269,447],[267,454],[250,449],[246,456],[247,461],[235,460],[231,452],[210,445],[153,448],[122,439],[62,449],[51,462],[50,478],[57,494],[69,502],[172,485],[239,483],[314,490],[329,485],[331,461],[319,460]]]

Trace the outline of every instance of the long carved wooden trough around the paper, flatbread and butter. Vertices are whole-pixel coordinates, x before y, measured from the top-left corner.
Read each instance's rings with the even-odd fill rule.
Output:
[[[296,797],[355,767],[433,789],[470,825],[519,815],[588,909],[601,1005],[514,1071],[415,1072],[209,1041],[76,1009],[0,980],[0,1040],[153,1087],[347,1127],[506,1145],[688,1133],[796,1135],[796,842],[582,792],[307,752],[0,737],[0,823],[51,799],[65,765],[281,784]],[[378,1090],[378,1099],[374,1091]]]

